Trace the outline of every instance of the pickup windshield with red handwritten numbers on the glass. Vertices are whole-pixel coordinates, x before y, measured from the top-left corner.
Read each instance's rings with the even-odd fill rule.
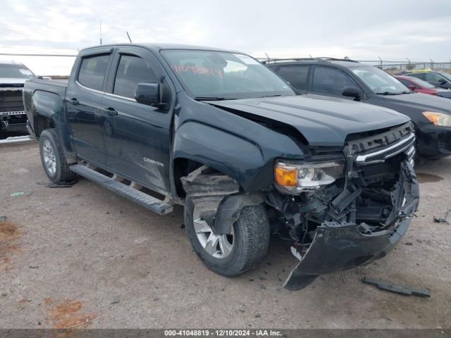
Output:
[[[166,50],[162,54],[196,99],[295,95],[287,82],[244,54],[190,50]]]

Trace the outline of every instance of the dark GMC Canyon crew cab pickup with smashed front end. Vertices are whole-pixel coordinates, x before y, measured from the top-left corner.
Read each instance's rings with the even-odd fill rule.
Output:
[[[28,127],[52,182],[86,177],[159,214],[184,206],[194,251],[235,276],[290,237],[285,287],[385,256],[419,201],[412,123],[387,108],[297,95],[237,51],[80,51],[68,84],[30,80]]]

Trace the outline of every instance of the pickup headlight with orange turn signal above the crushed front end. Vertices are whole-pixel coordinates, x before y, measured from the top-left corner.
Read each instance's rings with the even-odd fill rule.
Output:
[[[286,192],[314,192],[342,176],[343,167],[343,163],[336,161],[299,163],[278,160],[274,167],[274,176],[278,187]]]

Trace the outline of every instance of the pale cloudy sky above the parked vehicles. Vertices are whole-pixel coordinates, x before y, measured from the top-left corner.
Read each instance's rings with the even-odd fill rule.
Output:
[[[100,44],[180,43],[271,58],[451,60],[450,0],[5,0],[0,53],[77,54]],[[73,57],[0,56],[38,75],[68,75]]]

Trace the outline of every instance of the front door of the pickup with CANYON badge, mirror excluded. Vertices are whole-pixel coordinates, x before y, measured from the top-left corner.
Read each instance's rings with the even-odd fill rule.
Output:
[[[102,111],[108,168],[150,189],[169,191],[171,113],[135,100],[138,83],[162,77],[150,51],[121,47],[113,57]]]

